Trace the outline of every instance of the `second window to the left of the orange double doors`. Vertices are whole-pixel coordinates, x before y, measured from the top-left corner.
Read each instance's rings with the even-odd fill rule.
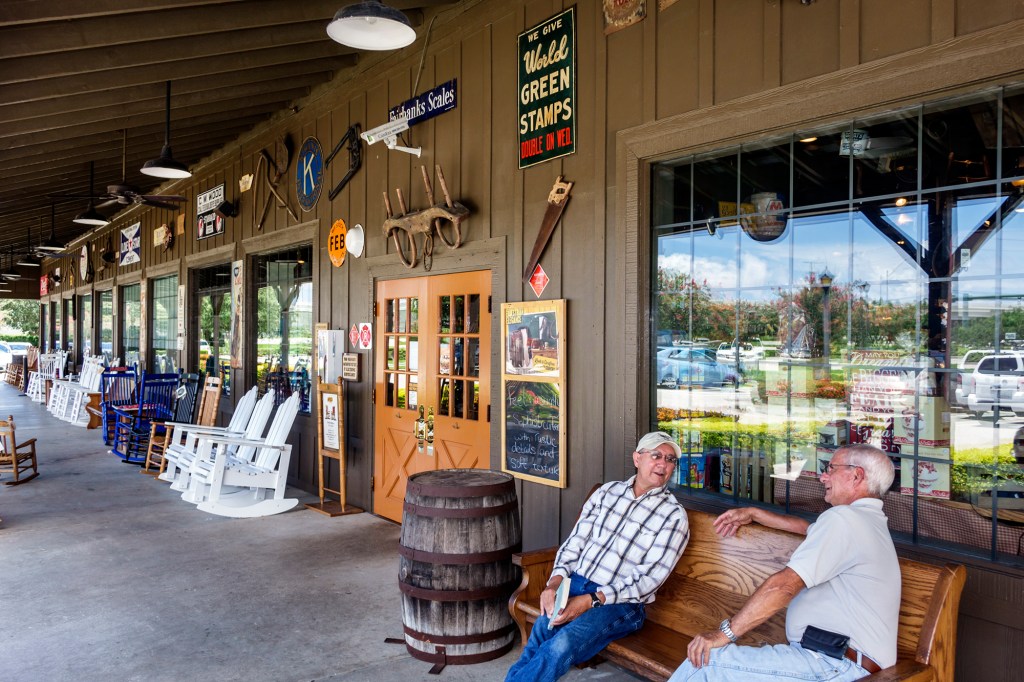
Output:
[[[231,394],[231,266],[227,263],[196,270],[193,275],[193,335],[196,372],[219,376],[224,395]]]

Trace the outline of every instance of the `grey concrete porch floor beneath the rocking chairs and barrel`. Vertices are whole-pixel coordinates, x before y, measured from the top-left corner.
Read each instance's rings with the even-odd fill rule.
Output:
[[[501,680],[518,656],[434,676],[384,643],[401,636],[394,523],[301,504],[213,516],[0,382],[7,415],[40,473],[0,485],[0,681],[459,682]],[[563,679],[637,678],[605,663]]]

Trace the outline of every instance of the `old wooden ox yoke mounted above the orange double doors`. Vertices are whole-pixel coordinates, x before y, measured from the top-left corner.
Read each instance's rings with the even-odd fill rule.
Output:
[[[398,208],[401,209],[399,215],[395,215],[391,210],[391,201],[387,193],[384,193],[384,210],[387,213],[387,220],[384,221],[384,236],[394,242],[398,257],[406,267],[416,267],[419,259],[417,233],[423,233],[423,267],[429,270],[433,264],[434,252],[434,230],[440,237],[441,242],[450,249],[458,249],[462,245],[462,221],[469,216],[469,209],[459,202],[452,201],[447,183],[444,181],[444,173],[440,164],[434,167],[437,172],[437,182],[441,185],[441,193],[444,195],[444,202],[436,205],[434,202],[434,189],[430,185],[430,178],[424,166],[420,167],[423,174],[423,185],[427,190],[427,201],[431,203],[430,208],[422,211],[410,211],[406,206],[406,198],[401,189],[395,189],[398,196]],[[452,223],[452,241],[444,236],[444,223]],[[409,252],[409,255],[406,252]]]

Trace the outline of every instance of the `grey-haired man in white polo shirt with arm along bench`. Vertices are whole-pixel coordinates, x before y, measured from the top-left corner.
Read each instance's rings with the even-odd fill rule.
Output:
[[[901,583],[882,512],[893,476],[892,461],[881,450],[849,445],[836,452],[821,475],[831,508],[813,524],[754,507],[719,516],[715,528],[722,536],[756,521],[807,540],[738,613],[693,638],[670,682],[795,677],[846,682],[894,665]],[[788,644],[735,644],[785,606]]]

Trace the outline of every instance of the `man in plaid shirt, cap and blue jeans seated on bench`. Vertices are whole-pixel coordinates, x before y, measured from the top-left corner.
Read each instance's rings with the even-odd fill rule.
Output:
[[[541,615],[506,682],[557,680],[640,629],[644,604],[654,601],[690,537],[686,511],[668,488],[679,456],[668,433],[648,433],[633,453],[636,475],[590,497],[558,549]],[[569,600],[556,614],[555,592],[564,580]]]

